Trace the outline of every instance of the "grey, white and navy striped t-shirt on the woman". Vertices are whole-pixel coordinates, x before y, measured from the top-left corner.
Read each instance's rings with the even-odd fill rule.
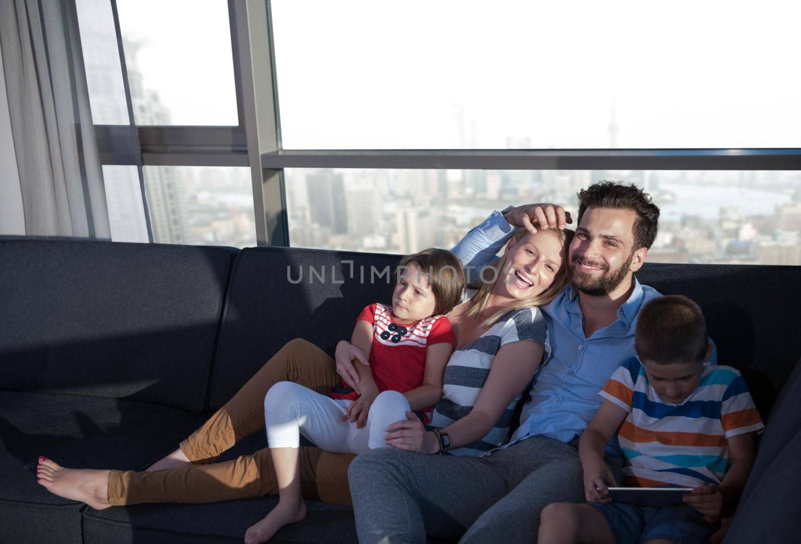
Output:
[[[544,344],[546,353],[543,361],[547,359],[548,325],[540,308],[517,308],[509,312],[476,340],[453,352],[445,367],[442,400],[434,407],[431,426],[447,427],[470,413],[489,376],[489,369],[498,350],[502,345],[518,340],[533,340]],[[480,456],[503,444],[509,437],[512,414],[520,397],[521,395],[517,395],[514,398],[484,438],[452,449],[450,453]]]

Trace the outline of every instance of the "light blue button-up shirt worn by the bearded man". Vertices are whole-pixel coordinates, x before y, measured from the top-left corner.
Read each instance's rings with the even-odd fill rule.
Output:
[[[477,279],[481,268],[496,259],[514,230],[501,212],[493,212],[453,248],[468,268],[469,281]],[[618,308],[618,320],[599,328],[589,338],[584,335],[578,289],[572,285],[542,308],[548,317],[551,355],[534,375],[521,425],[509,444],[535,434],[563,442],[578,437],[598,411],[598,392],[614,369],[636,356],[634,329],[638,312],[642,304],[657,296],[661,294],[656,289],[634,278],[631,295]]]

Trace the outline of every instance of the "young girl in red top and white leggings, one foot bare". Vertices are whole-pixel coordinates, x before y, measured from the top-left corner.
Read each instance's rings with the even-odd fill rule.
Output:
[[[461,263],[444,249],[425,249],[400,261],[392,306],[371,304],[356,320],[351,344],[369,365],[356,365],[358,390],[344,382],[328,396],[282,381],[264,398],[268,444],[279,486],[278,505],[245,533],[266,542],[284,525],[306,517],[301,497],[300,434],[338,453],[387,446],[389,424],[417,411],[429,421],[442,396],[442,374],[456,343],[444,314],[465,288]],[[361,355],[360,354],[360,355]]]

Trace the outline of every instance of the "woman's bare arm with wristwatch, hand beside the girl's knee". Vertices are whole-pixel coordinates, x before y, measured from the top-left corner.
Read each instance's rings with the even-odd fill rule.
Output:
[[[501,346],[476,405],[465,417],[445,428],[452,449],[472,444],[489,433],[514,397],[531,381],[542,360],[543,349],[543,345],[533,340],[513,341]],[[431,431],[425,432],[423,424],[411,417],[389,425],[384,439],[396,448],[422,453],[437,453],[440,449],[437,436]]]

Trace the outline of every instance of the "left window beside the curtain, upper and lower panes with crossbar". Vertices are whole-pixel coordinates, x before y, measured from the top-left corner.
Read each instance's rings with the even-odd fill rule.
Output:
[[[250,170],[209,165],[241,162],[216,149],[241,134],[228,8],[76,0],[112,240],[256,245]]]

